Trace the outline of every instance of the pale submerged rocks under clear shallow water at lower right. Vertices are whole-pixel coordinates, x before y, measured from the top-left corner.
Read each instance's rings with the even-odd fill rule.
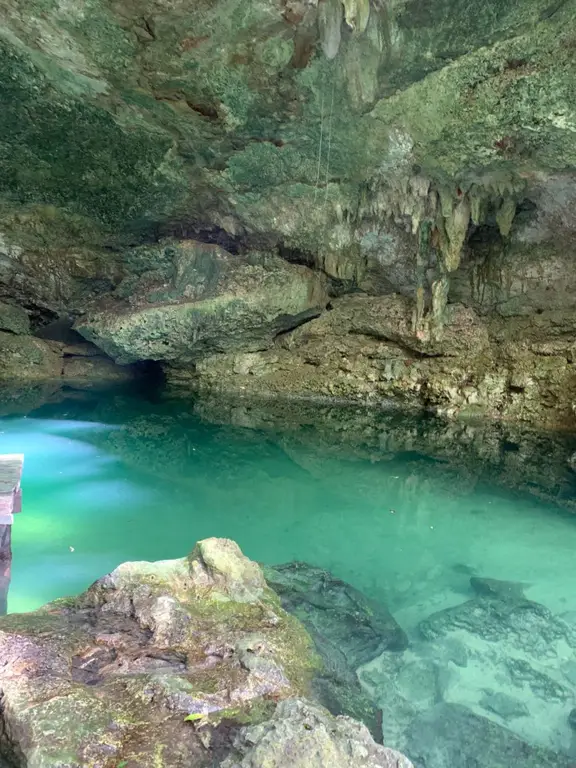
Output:
[[[520,585],[474,578],[480,594],[432,614],[400,655],[359,671],[385,743],[426,768],[568,766],[574,628]]]

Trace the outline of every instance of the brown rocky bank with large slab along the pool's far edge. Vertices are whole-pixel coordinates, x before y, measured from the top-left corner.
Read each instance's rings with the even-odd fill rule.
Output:
[[[468,277],[456,273],[456,295],[437,333],[415,330],[416,305],[406,290],[375,295],[349,286],[352,293],[334,295],[325,275],[272,253],[234,256],[172,241],[130,259],[135,273],[125,272],[75,322],[71,316],[31,328],[27,312],[3,303],[0,381],[91,387],[133,380],[134,364],[145,363],[184,393],[393,404],[447,417],[576,426],[576,309],[563,298],[571,278],[555,262],[534,267],[538,281],[521,275],[521,286],[513,268],[502,267],[499,308],[486,299],[496,290],[492,273],[465,265]],[[64,336],[52,330],[66,322]]]

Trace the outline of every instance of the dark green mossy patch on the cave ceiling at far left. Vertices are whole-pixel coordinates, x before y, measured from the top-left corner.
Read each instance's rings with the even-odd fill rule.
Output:
[[[0,39],[0,194],[49,203],[105,227],[158,212],[182,194],[171,139],[121,127],[90,103],[56,96],[47,76]]]

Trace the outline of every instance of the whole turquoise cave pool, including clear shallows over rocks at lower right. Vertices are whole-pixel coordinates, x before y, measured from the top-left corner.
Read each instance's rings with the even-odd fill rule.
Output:
[[[359,678],[416,766],[569,765],[575,443],[413,414],[70,393],[0,420],[0,453],[26,457],[8,610],[233,538],[392,611],[410,645]]]

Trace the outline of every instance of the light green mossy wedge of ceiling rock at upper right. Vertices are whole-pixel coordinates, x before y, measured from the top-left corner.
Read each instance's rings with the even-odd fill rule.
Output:
[[[542,22],[382,100],[374,115],[409,133],[424,167],[451,183],[479,169],[574,165],[570,34],[564,24]]]

